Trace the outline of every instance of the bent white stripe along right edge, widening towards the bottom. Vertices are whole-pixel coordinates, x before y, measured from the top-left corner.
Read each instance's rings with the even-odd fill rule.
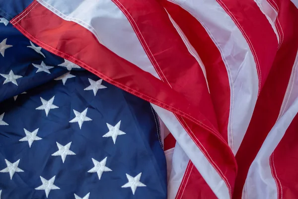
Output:
[[[280,110],[280,116],[249,168],[245,189],[243,189],[244,199],[277,199],[277,186],[271,173],[270,156],[283,138],[297,112],[298,54],[283,100],[283,107]]]

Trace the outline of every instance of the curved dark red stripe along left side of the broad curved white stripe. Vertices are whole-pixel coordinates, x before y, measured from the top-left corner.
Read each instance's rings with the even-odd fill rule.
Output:
[[[227,142],[230,88],[221,53],[205,28],[188,11],[167,0],[163,1],[163,6],[189,39],[205,65],[219,131]]]

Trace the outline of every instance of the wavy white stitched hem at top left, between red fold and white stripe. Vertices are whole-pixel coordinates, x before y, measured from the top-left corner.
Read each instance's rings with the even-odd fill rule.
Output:
[[[59,17],[63,18],[66,21],[73,21],[75,23],[78,23],[79,25],[85,27],[86,29],[88,29],[90,32],[92,32],[94,34],[94,36],[97,38],[97,40],[103,44],[102,40],[100,39],[100,37],[98,36],[97,31],[87,22],[82,21],[78,18],[75,17],[71,17],[68,15],[65,15],[64,13],[62,13],[61,11],[59,11],[58,9],[56,9],[55,7],[53,7],[51,4],[49,4],[48,2],[44,1],[44,0],[38,0],[40,4],[42,4],[44,7],[48,8],[49,10],[51,10],[52,12],[54,12],[56,15],[58,15]],[[42,2],[41,2],[42,1]],[[51,9],[52,8],[52,9]],[[83,25],[85,24],[85,25]]]

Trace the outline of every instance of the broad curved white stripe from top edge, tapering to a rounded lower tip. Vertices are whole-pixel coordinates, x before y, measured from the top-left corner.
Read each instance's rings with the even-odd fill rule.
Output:
[[[221,52],[231,94],[228,144],[236,154],[250,122],[259,88],[256,63],[249,45],[237,25],[216,0],[169,1],[192,14],[204,26]]]

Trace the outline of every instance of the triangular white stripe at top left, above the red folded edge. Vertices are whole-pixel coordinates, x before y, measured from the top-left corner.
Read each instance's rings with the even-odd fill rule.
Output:
[[[64,20],[88,29],[115,54],[160,79],[129,20],[111,0],[37,1]]]

